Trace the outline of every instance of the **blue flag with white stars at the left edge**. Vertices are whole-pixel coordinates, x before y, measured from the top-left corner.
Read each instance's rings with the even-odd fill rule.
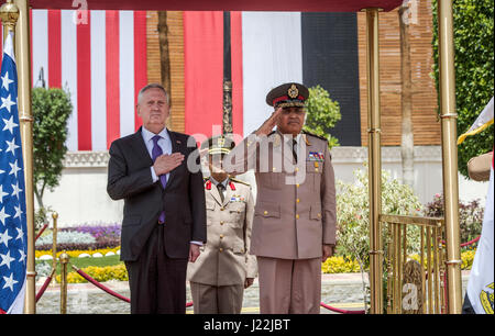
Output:
[[[24,307],[28,228],[24,164],[18,115],[18,71],[9,34],[0,83],[0,313]]]

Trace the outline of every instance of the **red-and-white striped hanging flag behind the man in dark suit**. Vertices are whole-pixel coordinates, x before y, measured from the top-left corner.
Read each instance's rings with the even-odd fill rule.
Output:
[[[107,150],[135,132],[147,83],[146,12],[32,10],[31,33],[33,87],[70,92],[68,150]]]

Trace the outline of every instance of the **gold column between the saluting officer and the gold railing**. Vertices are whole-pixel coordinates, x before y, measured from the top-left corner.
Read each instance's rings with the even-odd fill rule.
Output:
[[[366,68],[367,68],[367,157],[370,191],[370,288],[371,313],[383,313],[383,247],[378,220],[382,212],[382,148],[380,122],[380,65],[378,65],[378,11],[366,12]]]

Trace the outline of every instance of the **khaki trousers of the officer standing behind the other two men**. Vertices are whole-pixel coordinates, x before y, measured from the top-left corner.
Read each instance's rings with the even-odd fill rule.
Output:
[[[240,314],[244,285],[210,285],[190,282],[195,314]]]

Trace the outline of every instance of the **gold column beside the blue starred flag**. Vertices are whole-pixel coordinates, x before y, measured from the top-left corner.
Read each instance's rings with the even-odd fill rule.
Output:
[[[24,313],[36,313],[36,271],[34,260],[34,193],[33,193],[33,116],[31,112],[31,51],[29,0],[14,0],[19,8],[15,26],[15,63],[18,66],[19,121],[24,160],[25,206],[28,219],[28,283]]]

